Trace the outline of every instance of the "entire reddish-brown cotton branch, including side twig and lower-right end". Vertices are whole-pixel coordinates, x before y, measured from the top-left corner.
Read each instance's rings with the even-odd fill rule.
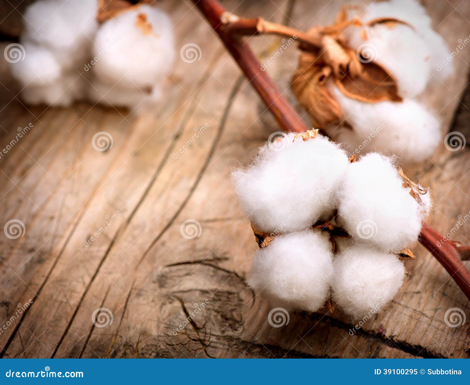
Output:
[[[243,35],[277,34],[285,37],[295,35],[301,44],[313,47],[320,46],[320,40],[307,36],[301,31],[266,22],[262,18],[240,18],[229,13],[217,0],[193,1],[211,23],[214,31],[217,32],[282,129],[293,132],[307,131],[308,127],[303,120],[282,96],[281,91],[266,71],[261,69],[261,64],[243,40]],[[420,242],[436,257],[470,300],[470,272],[462,263],[462,260],[469,259],[470,247],[446,239],[426,223],[423,223]]]

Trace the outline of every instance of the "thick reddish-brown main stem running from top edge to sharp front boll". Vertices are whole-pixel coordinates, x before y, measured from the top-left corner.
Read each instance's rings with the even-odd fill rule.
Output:
[[[227,50],[232,54],[282,129],[295,132],[308,130],[304,121],[282,96],[281,91],[279,91],[271,77],[263,70],[261,63],[258,62],[248,44],[243,44],[243,38],[228,34],[225,31],[226,9],[216,0],[194,0],[194,3],[211,23],[214,31],[217,32]]]

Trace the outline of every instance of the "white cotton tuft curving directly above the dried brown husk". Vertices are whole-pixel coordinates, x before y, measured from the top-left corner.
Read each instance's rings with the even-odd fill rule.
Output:
[[[365,35],[359,33],[365,31]],[[401,97],[413,97],[423,92],[431,77],[430,47],[413,29],[397,24],[392,29],[377,24],[372,27],[354,28],[348,33],[348,46],[362,48],[367,60],[388,70],[398,83]],[[366,36],[366,39],[364,39]]]

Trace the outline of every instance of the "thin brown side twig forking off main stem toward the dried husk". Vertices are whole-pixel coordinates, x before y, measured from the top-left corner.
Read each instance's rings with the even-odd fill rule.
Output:
[[[307,35],[305,32],[296,30],[295,28],[268,22],[262,17],[253,19],[240,17],[233,21],[230,20],[226,23],[225,31],[232,35],[279,35],[286,38],[296,39],[299,42],[315,48],[321,48],[320,36]]]

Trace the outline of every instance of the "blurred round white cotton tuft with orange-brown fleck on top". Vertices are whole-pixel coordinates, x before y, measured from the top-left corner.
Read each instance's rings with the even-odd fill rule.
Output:
[[[93,56],[100,58],[94,74],[104,83],[153,89],[172,69],[172,26],[163,11],[145,5],[107,20],[94,39]]]

